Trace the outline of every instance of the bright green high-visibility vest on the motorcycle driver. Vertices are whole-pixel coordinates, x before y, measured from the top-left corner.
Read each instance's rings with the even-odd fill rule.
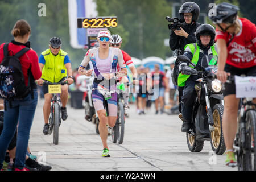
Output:
[[[200,47],[197,45],[197,43],[187,44],[184,49],[186,49],[187,47],[189,47],[189,49],[191,50],[191,52],[193,54],[193,58],[192,58],[191,62],[194,65],[196,65],[199,60]],[[210,48],[212,49],[212,55],[217,56],[218,53],[216,52],[214,45],[210,46]],[[209,65],[215,65],[216,63],[217,63],[216,60],[210,61]],[[193,65],[189,65],[189,67],[195,68],[195,67],[193,67]],[[185,82],[188,80],[189,77],[190,77],[190,75],[184,75],[184,74],[179,73],[178,86],[180,86],[180,87],[185,86]]]

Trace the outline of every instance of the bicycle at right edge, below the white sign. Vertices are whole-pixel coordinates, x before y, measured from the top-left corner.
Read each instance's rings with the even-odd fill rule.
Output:
[[[234,80],[234,76],[229,76],[227,82]],[[239,171],[256,171],[256,104],[252,101],[253,98],[241,98],[238,109],[238,127],[233,148]]]

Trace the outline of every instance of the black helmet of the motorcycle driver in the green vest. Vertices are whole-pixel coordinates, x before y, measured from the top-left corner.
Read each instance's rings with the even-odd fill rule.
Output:
[[[201,24],[199,27],[196,28],[196,32],[195,32],[197,45],[199,47],[203,46],[203,44],[201,43],[201,40],[200,40],[201,35],[210,35],[210,43],[208,44],[208,46],[213,46],[215,34],[216,33],[215,33],[213,26],[211,26],[210,24],[206,24],[206,23]]]

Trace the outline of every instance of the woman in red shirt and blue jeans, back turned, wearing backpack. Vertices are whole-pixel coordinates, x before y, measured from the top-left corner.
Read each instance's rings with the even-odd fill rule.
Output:
[[[14,36],[14,40],[9,43],[8,46],[9,56],[15,55],[25,47],[30,48],[30,42],[28,42],[30,33],[31,28],[26,20],[18,20],[18,22],[15,23],[14,28],[11,31],[11,34]],[[0,63],[2,63],[4,58],[4,44],[5,43],[0,46]],[[0,169],[2,169],[7,147],[15,134],[16,127],[19,122],[14,168],[15,171],[27,171],[28,169],[24,167],[28,139],[32,121],[34,119],[36,105],[38,103],[38,92],[36,90],[35,80],[38,80],[42,73],[39,68],[38,56],[32,49],[20,56],[19,61],[22,65],[22,72],[26,86],[28,86],[28,78],[29,74],[31,74],[30,86],[32,91],[22,100],[16,100],[14,98],[14,100],[11,101],[11,105],[9,101],[5,100],[4,125],[0,136]]]

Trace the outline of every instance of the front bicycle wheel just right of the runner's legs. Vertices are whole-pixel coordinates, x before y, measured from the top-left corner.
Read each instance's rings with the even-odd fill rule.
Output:
[[[118,102],[119,114],[118,114],[118,123],[116,124],[118,127],[118,143],[123,143],[123,137],[125,136],[125,111],[123,110],[123,104],[121,101]]]

